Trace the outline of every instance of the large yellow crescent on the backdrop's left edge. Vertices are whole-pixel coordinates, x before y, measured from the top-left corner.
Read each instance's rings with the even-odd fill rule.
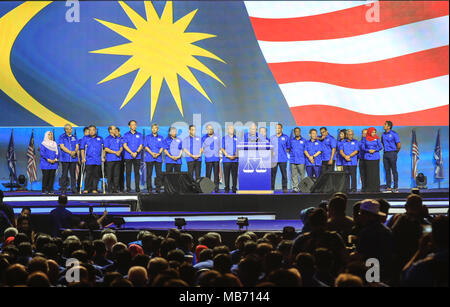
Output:
[[[11,50],[25,25],[53,1],[27,1],[0,18],[0,90],[12,100],[52,126],[75,124],[53,113],[30,96],[16,80],[11,69]]]

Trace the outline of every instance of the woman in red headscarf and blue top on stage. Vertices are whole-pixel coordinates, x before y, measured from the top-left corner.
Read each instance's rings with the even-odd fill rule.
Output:
[[[366,192],[380,192],[380,150],[383,149],[377,130],[374,127],[367,129],[366,139],[362,143],[366,166],[365,190]]]

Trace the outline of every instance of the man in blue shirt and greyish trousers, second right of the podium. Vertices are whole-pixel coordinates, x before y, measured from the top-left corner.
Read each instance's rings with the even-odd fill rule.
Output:
[[[294,129],[294,137],[291,139],[291,181],[294,193],[300,192],[300,181],[305,177],[305,145],[306,140],[301,136],[299,127]],[[299,178],[300,177],[300,178]]]

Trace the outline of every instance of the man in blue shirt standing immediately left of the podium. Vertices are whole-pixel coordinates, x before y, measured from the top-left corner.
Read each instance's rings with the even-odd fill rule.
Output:
[[[223,173],[225,177],[225,193],[230,192],[230,174],[233,186],[233,193],[237,190],[237,176],[239,168],[239,159],[237,153],[237,137],[234,126],[227,127],[227,135],[222,138],[222,154],[223,154]]]

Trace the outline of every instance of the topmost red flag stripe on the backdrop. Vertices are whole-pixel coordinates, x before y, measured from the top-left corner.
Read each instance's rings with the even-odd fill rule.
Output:
[[[251,17],[256,38],[262,41],[301,41],[350,37],[382,31],[449,14],[448,1],[379,1],[380,22],[367,22],[373,6],[361,5],[296,18]]]

